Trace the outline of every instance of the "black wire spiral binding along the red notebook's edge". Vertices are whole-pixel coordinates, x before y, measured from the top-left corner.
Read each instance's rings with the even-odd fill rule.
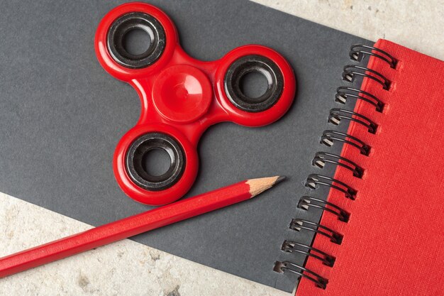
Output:
[[[396,68],[397,61],[394,57],[392,57],[392,55],[384,52],[384,50],[380,50],[379,48],[374,48],[369,45],[353,45],[350,48],[349,55],[352,60],[355,60],[357,62],[362,62],[362,59],[365,56],[373,56],[383,60],[384,62],[387,62],[390,67]],[[368,79],[374,80],[375,82],[381,84],[383,89],[389,89],[391,84],[391,82],[387,80],[384,75],[360,65],[345,66],[343,69],[342,77],[343,80],[348,82],[354,82],[355,78],[357,77],[367,77]],[[335,102],[345,104],[348,99],[360,99],[364,102],[367,102],[368,104],[374,106],[377,112],[382,112],[382,110],[384,109],[384,103],[381,102],[381,100],[379,100],[373,94],[364,92],[354,87],[338,87],[338,89],[336,89]],[[366,116],[363,116],[362,114],[339,108],[333,108],[330,110],[328,121],[331,124],[339,125],[340,122],[343,120],[355,121],[357,124],[365,126],[365,128],[367,128],[370,133],[376,133],[377,131],[377,124],[375,124],[374,121],[367,118]],[[347,133],[342,133],[340,131],[327,130],[323,132],[321,136],[321,144],[327,147],[331,147],[334,145],[335,142],[341,142],[343,144],[353,146],[357,148],[363,155],[368,156],[370,153],[370,146],[361,141],[359,138],[350,136]],[[327,163],[340,165],[343,168],[350,170],[351,172],[353,172],[354,177],[360,178],[364,173],[364,169],[361,168],[360,165],[357,165],[347,158],[332,153],[318,152],[314,156],[312,162],[314,166],[321,169],[324,168]],[[345,184],[345,182],[336,180],[333,177],[328,177],[325,175],[310,174],[306,180],[306,187],[309,187],[312,190],[316,190],[316,188],[318,188],[319,186],[331,187],[335,190],[343,192],[346,198],[352,200],[355,199],[357,194],[357,190]],[[345,223],[348,222],[348,219],[350,217],[350,213],[346,212],[344,209],[331,202],[327,202],[323,199],[318,199],[315,197],[301,197],[301,199],[299,199],[297,207],[304,210],[309,210],[311,207],[322,209],[323,212],[329,212],[331,214],[334,214],[335,216],[338,216],[338,220]],[[304,219],[293,219],[289,228],[294,231],[313,231],[315,234],[328,237],[331,242],[337,244],[340,244],[343,241],[343,235],[338,233],[338,231],[335,231],[313,221],[307,221]],[[282,251],[287,253],[302,253],[306,255],[307,258],[316,258],[317,260],[321,261],[321,263],[329,267],[333,267],[335,263],[334,256],[318,250],[317,248],[313,248],[303,243],[298,243],[296,241],[284,241],[284,243],[282,244]],[[328,284],[327,278],[314,273],[312,270],[309,270],[304,266],[292,263],[291,261],[277,261],[274,264],[274,271],[277,271],[278,273],[294,273],[296,275],[299,275],[299,277],[311,280],[313,283],[315,283],[316,287],[320,287],[321,289],[326,289]]]

